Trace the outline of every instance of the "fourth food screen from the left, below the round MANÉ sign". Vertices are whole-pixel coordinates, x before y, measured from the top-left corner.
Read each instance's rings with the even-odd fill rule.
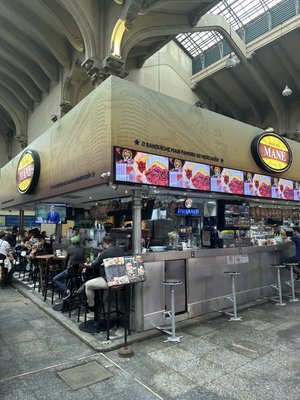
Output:
[[[244,179],[244,194],[246,196],[271,198],[270,176],[245,172]]]

